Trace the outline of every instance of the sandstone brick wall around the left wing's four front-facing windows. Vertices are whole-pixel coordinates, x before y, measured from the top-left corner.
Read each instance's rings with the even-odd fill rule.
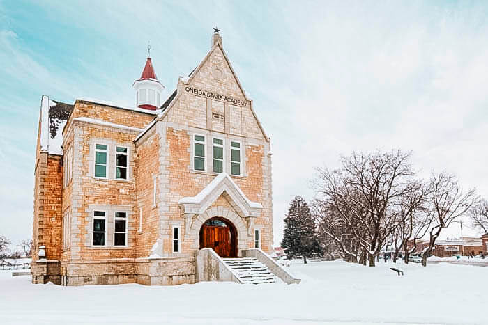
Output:
[[[84,122],[75,122],[75,164],[73,166],[73,260],[105,260],[134,257],[137,223],[137,152],[133,139],[138,132],[114,129]],[[93,177],[94,147],[108,145],[107,175],[109,179]],[[115,147],[128,148],[128,180],[114,180]],[[93,210],[107,211],[107,247],[92,247]],[[114,212],[128,212],[128,247],[113,246]],[[78,246],[78,247],[77,247]]]

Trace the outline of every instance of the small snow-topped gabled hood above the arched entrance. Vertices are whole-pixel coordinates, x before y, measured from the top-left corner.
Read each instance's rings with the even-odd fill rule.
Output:
[[[257,216],[263,209],[260,203],[249,200],[227,173],[218,174],[196,196],[181,198],[178,204],[183,213],[202,214],[222,193],[229,196],[231,205],[234,205],[242,216]]]

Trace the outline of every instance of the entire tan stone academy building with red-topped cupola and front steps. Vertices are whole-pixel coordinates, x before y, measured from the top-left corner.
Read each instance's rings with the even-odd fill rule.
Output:
[[[134,108],[42,97],[33,283],[297,282],[267,255],[270,139],[220,35],[166,100],[149,57],[133,87]]]

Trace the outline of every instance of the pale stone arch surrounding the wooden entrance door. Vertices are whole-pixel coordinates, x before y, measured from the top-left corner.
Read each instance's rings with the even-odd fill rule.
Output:
[[[201,225],[203,225],[208,219],[215,217],[226,219],[234,225],[237,232],[237,253],[238,255],[241,255],[241,251],[247,248],[246,244],[249,239],[246,225],[241,216],[239,216],[235,211],[229,209],[228,207],[222,206],[209,207],[204,213],[198,214],[195,217],[190,227],[190,232],[188,233],[190,239],[192,239],[192,248],[199,249]]]

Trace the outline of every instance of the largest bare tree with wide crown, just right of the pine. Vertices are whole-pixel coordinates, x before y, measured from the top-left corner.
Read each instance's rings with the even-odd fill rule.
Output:
[[[333,226],[344,231],[330,231],[337,243],[348,239],[357,245],[356,257],[363,254],[374,266],[386,240],[399,226],[398,205],[409,191],[413,176],[409,153],[401,150],[356,154],[342,157],[341,168],[329,171],[317,168],[312,184],[323,210],[335,216]],[[342,235],[339,237],[339,235]],[[353,253],[353,252],[351,252]]]

